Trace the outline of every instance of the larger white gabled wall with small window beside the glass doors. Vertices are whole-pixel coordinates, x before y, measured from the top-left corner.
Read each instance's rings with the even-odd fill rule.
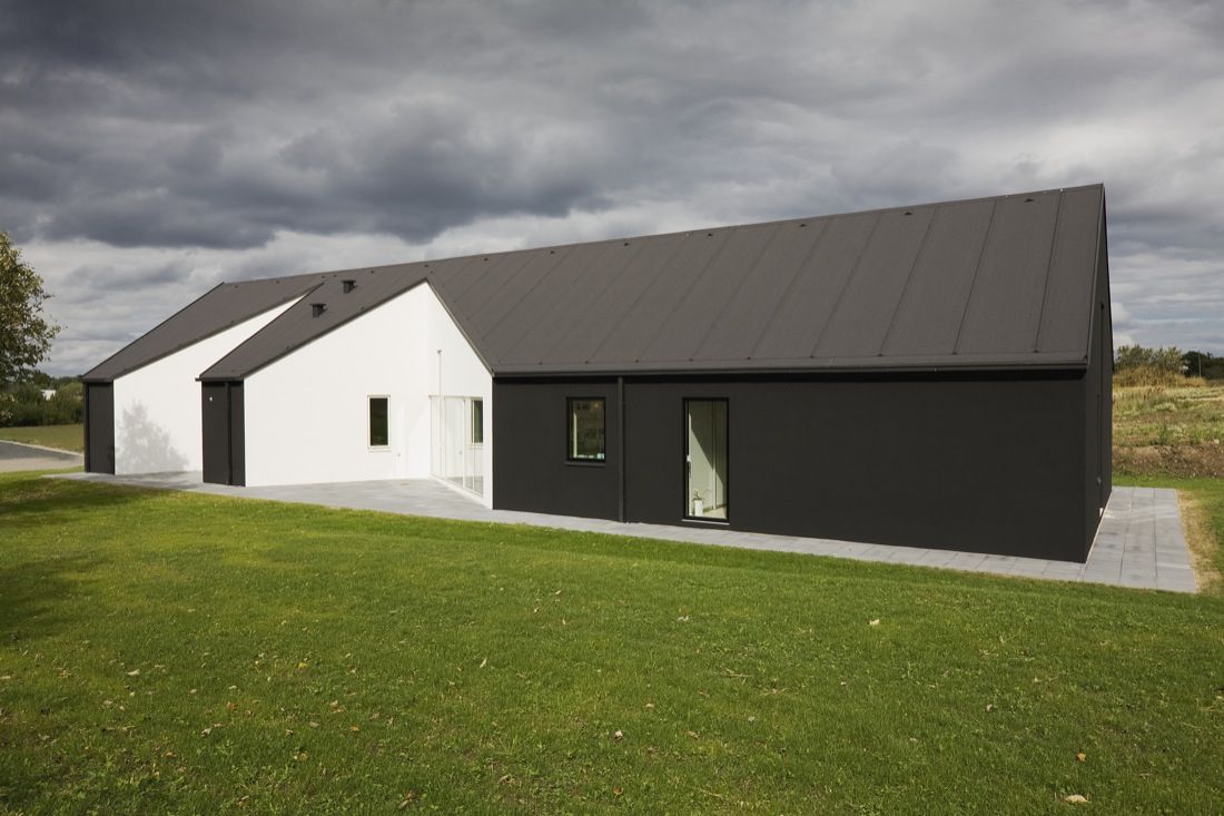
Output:
[[[483,504],[493,502],[493,380],[428,283],[256,371],[244,386],[246,484],[430,475],[430,396],[485,401]],[[368,446],[371,396],[389,445]]]

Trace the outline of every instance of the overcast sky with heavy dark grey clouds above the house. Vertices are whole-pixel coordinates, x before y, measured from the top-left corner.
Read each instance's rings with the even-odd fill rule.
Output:
[[[0,0],[0,229],[78,374],[219,281],[1103,181],[1224,354],[1224,4]]]

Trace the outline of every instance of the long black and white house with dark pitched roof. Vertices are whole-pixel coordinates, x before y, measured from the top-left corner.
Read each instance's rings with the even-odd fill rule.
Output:
[[[86,375],[87,469],[1083,561],[1111,357],[1091,185],[224,284]]]

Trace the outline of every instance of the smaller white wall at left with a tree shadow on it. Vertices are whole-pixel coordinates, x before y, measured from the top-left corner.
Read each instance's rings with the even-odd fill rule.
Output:
[[[296,298],[115,380],[115,473],[203,468],[196,377],[289,309]]]

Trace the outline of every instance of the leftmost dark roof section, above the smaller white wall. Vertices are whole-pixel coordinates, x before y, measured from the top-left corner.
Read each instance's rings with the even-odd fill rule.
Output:
[[[109,381],[220,333],[318,285],[322,274],[222,283],[89,369],[86,381]]]

